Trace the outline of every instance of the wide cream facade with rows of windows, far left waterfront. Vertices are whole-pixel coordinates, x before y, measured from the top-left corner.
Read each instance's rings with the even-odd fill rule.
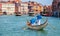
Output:
[[[14,14],[15,4],[13,4],[13,3],[2,3],[2,12],[7,12],[7,14]]]

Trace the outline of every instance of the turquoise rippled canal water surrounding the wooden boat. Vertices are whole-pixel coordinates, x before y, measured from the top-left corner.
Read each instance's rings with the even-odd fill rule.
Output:
[[[31,18],[27,15],[0,16],[0,36],[60,36],[60,18],[43,17],[48,18],[48,26],[41,31],[24,29]]]

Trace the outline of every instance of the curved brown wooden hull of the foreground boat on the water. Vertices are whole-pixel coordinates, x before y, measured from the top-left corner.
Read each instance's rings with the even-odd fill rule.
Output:
[[[34,25],[34,26],[32,26],[30,24],[30,22],[27,21],[28,28],[33,29],[33,30],[41,30],[41,29],[45,28],[47,25],[48,25],[47,19],[46,19],[46,21],[43,24],[41,24],[41,25]]]

